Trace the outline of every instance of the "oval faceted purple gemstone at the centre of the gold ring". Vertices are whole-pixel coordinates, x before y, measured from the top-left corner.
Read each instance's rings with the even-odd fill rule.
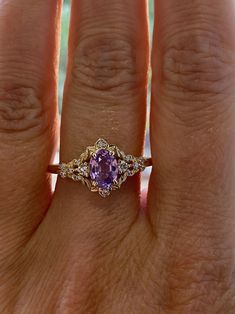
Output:
[[[117,159],[108,150],[100,149],[90,159],[90,177],[99,188],[109,189],[118,176]]]

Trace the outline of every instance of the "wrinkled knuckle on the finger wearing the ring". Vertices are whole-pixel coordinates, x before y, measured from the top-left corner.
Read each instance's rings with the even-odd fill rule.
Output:
[[[117,36],[116,36],[117,37]],[[134,90],[141,81],[135,66],[133,44],[120,38],[87,37],[76,48],[72,77],[76,86],[91,93],[120,94]]]

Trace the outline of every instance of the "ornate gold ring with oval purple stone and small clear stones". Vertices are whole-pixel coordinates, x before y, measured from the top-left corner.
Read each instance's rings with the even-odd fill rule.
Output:
[[[126,155],[116,145],[100,138],[94,146],[88,146],[78,159],[68,163],[49,165],[48,172],[61,178],[80,181],[91,192],[98,192],[102,197],[117,190],[130,176],[152,166],[152,159]]]

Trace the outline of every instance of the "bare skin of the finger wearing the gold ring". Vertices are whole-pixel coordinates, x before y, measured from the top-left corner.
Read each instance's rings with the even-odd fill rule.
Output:
[[[140,22],[141,21],[141,22]],[[69,62],[64,93],[61,160],[68,162],[103,137],[125,153],[141,155],[146,112],[148,23],[142,0],[72,2]],[[128,183],[129,182],[129,183]],[[139,178],[129,178],[121,192],[100,201],[81,184],[59,182],[59,198],[88,199],[136,214]],[[122,197],[120,198],[120,193]],[[96,205],[94,205],[96,204]],[[99,205],[101,204],[101,205]],[[131,215],[130,215],[131,216]]]

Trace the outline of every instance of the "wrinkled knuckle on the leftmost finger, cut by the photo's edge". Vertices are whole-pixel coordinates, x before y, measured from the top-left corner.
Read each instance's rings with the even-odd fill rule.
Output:
[[[48,126],[37,92],[29,87],[0,89],[0,134],[25,133],[35,137]]]

